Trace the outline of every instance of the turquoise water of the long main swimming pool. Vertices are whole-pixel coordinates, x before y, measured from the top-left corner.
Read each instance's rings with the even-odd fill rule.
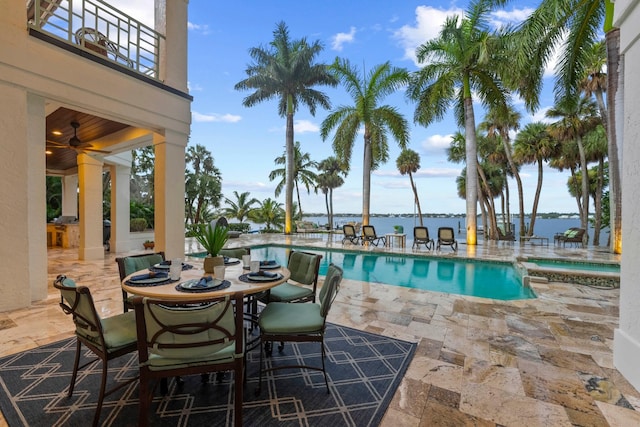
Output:
[[[253,247],[251,255],[286,265],[289,249],[322,255],[321,275],[334,263],[351,280],[499,300],[536,298],[508,263],[284,246]]]

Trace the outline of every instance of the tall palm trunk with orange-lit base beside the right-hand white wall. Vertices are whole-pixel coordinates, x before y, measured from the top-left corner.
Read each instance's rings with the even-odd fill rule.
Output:
[[[622,185],[620,158],[618,157],[618,123],[616,116],[623,114],[624,56],[620,55],[620,29],[615,28],[605,35],[607,43],[607,129],[609,158],[609,205],[610,205],[610,248],[615,254],[622,253]],[[620,141],[622,146],[622,141]]]

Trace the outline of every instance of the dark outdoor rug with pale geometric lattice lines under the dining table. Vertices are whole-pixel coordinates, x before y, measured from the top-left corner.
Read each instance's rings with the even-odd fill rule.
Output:
[[[260,354],[247,355],[244,387],[245,426],[377,426],[384,415],[416,349],[409,343],[330,324],[325,337],[330,394],[322,372],[285,369],[263,379],[255,395]],[[273,349],[270,365],[304,359],[320,364],[318,343],[285,343]],[[0,359],[0,408],[9,426],[91,425],[100,384],[100,362],[79,373],[71,398],[67,389],[73,369],[75,338],[62,340]],[[90,352],[87,351],[87,356]],[[84,359],[86,360],[86,359]],[[137,354],[109,363],[107,388],[137,374]],[[233,375],[184,377],[169,383],[169,394],[156,389],[149,411],[152,426],[232,425]],[[100,423],[135,426],[138,419],[138,383],[107,396]]]

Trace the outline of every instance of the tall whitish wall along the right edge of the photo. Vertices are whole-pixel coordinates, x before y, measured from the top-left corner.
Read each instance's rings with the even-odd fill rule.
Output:
[[[640,390],[640,7],[638,1],[616,1],[620,54],[624,55],[622,150],[622,235],[620,324],[614,336],[614,365]]]

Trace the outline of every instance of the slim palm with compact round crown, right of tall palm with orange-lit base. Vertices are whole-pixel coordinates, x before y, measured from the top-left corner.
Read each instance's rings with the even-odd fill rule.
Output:
[[[557,142],[548,133],[547,125],[542,122],[529,123],[516,135],[516,140],[513,144],[514,159],[517,162],[536,163],[538,165],[538,182],[536,193],[533,196],[528,236],[533,235],[536,224],[538,202],[542,191],[544,161],[555,155],[558,148]],[[520,231],[520,235],[523,235],[522,231]]]

